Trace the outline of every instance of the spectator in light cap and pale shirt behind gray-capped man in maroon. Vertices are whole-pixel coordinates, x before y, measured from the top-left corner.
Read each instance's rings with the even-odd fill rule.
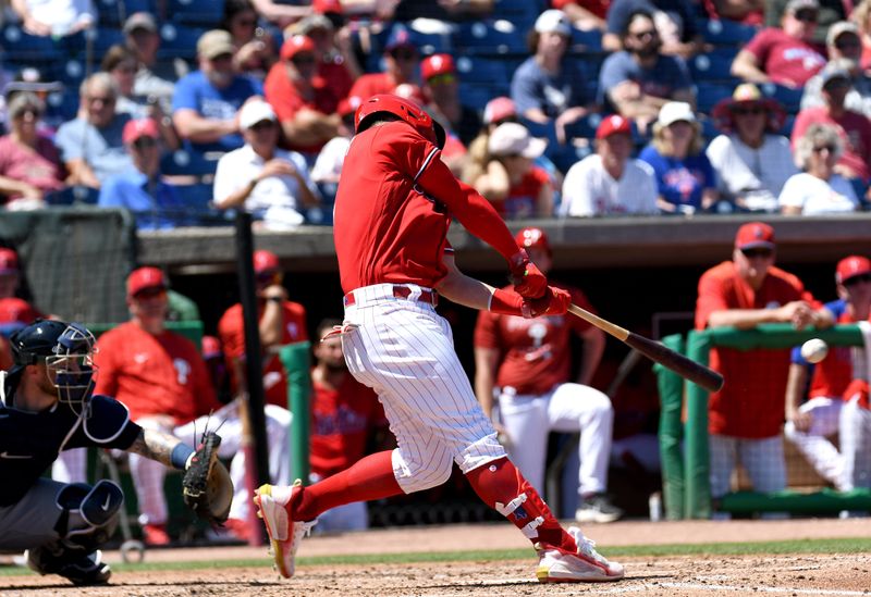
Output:
[[[849,21],[835,23],[829,29],[826,48],[829,49],[829,64],[837,61],[849,71],[852,79],[852,88],[844,100],[845,107],[854,112],[871,116],[871,76],[859,65],[862,52],[859,28]],[[802,110],[821,105],[825,105],[822,72],[813,75],[805,84],[805,92],[801,95]]]

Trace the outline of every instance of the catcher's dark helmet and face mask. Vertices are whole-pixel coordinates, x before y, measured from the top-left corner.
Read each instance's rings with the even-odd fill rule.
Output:
[[[85,412],[97,374],[94,334],[78,323],[36,320],[10,339],[15,369],[45,362],[58,399],[76,414]]]

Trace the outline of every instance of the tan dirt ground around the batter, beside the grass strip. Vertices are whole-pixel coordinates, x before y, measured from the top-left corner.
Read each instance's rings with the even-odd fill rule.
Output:
[[[617,522],[588,525],[588,536],[608,555],[609,548],[633,545],[708,544],[871,537],[871,520],[789,520],[733,522]],[[0,595],[19,596],[502,596],[502,595],[871,595],[868,554],[613,557],[626,567],[626,579],[604,584],[536,582],[531,548],[523,560],[455,562],[319,564],[305,558],[361,554],[444,552],[523,548],[529,544],[508,524],[404,527],[305,539],[294,579],[286,581],[268,567],[209,568],[216,560],[267,560],[266,548],[214,547],[149,550],[146,562],[203,562],[187,571],[116,571],[102,587],[73,587],[58,576],[0,576]],[[110,562],[120,561],[108,552]]]

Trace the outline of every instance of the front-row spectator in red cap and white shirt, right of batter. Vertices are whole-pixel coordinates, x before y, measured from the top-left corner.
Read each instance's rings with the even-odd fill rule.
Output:
[[[596,129],[596,153],[573,165],[563,183],[563,216],[654,214],[657,178],[647,162],[634,160],[633,128],[621,115],[605,116]]]

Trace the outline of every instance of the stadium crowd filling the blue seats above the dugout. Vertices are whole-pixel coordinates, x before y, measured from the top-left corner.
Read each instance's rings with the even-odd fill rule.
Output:
[[[354,110],[394,92],[506,219],[860,210],[868,4],[21,0],[0,194],[143,229],[329,224]]]

